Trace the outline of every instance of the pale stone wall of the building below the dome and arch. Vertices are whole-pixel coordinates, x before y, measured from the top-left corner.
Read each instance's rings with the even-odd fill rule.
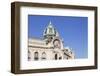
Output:
[[[28,44],[28,60],[35,60],[35,52],[38,52],[38,60],[57,60],[59,59],[74,59],[74,54],[72,53],[70,48],[63,48],[63,44],[61,49],[54,48],[52,42],[48,45],[44,40],[38,39],[29,39]],[[45,54],[43,54],[45,53]],[[45,56],[46,59],[42,59]]]

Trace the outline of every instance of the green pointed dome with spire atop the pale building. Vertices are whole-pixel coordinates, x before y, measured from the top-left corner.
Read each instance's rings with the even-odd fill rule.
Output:
[[[53,38],[55,36],[59,36],[58,32],[53,27],[51,21],[49,22],[48,26],[44,30],[43,36],[44,36],[44,38]]]

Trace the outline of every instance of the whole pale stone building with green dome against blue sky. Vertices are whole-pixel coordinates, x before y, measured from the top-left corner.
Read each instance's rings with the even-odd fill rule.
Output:
[[[63,44],[64,41],[50,22],[42,39],[28,39],[28,61],[74,59],[72,49],[65,48]]]

